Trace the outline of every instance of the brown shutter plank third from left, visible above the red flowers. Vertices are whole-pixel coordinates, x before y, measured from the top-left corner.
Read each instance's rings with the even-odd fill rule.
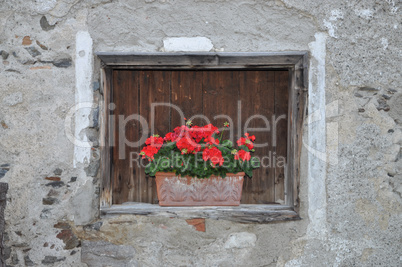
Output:
[[[180,112],[171,109],[171,130],[184,123],[184,117],[203,114],[202,72],[172,71],[171,103],[180,108]],[[193,120],[195,125],[204,125],[202,119]]]

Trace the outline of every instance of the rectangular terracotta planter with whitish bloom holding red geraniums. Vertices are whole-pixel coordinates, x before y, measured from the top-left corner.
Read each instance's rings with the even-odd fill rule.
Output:
[[[157,172],[155,178],[160,206],[239,206],[244,172],[206,179]]]

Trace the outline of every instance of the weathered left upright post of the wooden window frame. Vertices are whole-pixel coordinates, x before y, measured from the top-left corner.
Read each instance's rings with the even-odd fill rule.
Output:
[[[109,144],[109,103],[112,83],[112,70],[109,68],[101,69],[101,87],[103,92],[103,101],[99,106],[99,140],[101,149],[101,189],[100,189],[100,207],[110,207],[112,205],[112,183],[111,183],[111,153]]]

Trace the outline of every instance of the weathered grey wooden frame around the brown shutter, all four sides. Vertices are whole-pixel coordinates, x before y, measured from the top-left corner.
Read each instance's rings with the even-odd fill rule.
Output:
[[[308,91],[308,53],[109,53],[98,52],[101,60],[103,100],[100,118],[101,216],[135,214],[179,218],[213,218],[243,223],[298,220],[302,126]],[[289,71],[288,148],[283,205],[242,204],[238,207],[160,207],[147,203],[112,205],[110,173],[109,109],[112,72],[118,69],[284,69]]]

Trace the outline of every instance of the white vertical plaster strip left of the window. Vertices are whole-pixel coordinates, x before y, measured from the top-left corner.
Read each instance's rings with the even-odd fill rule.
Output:
[[[74,142],[74,167],[77,163],[88,163],[91,155],[91,144],[81,132],[90,125],[89,115],[93,102],[92,81],[92,39],[88,32],[80,31],[76,35],[75,50],[75,134],[81,142]],[[80,108],[81,107],[81,108]]]

